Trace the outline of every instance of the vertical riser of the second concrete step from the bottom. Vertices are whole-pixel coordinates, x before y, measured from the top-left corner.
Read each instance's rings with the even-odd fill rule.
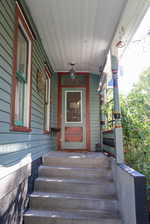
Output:
[[[81,209],[81,210],[104,210],[117,214],[118,206],[116,200],[92,200],[92,199],[66,199],[66,198],[44,198],[44,197],[31,197],[31,209],[44,209],[44,210],[60,210],[60,209]]]

